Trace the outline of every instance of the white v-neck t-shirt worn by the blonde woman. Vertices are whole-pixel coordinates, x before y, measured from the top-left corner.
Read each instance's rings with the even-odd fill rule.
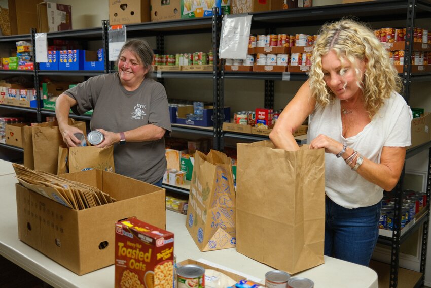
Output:
[[[309,118],[307,143],[319,134],[327,135],[365,158],[380,163],[382,148],[411,145],[412,111],[404,98],[393,92],[364,130],[355,136],[342,135],[340,100],[322,107],[316,104]],[[354,117],[350,115],[349,117]],[[346,165],[343,158],[325,153],[325,190],[332,201],[345,208],[374,205],[381,201],[383,189],[365,180]]]

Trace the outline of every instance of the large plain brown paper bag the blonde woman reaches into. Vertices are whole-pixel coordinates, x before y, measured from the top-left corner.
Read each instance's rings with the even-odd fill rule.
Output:
[[[325,151],[237,144],[237,251],[291,274],[324,263]]]

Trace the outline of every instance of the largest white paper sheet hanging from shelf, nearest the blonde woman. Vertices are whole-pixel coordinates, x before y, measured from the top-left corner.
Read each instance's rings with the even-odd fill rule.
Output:
[[[252,26],[252,15],[225,15],[220,36],[221,59],[245,59]]]

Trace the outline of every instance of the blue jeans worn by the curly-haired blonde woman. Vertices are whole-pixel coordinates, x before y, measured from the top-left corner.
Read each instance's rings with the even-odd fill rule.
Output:
[[[382,203],[347,209],[326,197],[325,255],[368,266],[379,237]]]

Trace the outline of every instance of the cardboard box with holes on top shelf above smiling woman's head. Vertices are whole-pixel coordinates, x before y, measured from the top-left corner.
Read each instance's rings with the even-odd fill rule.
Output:
[[[150,22],[150,0],[109,0],[110,25]]]

